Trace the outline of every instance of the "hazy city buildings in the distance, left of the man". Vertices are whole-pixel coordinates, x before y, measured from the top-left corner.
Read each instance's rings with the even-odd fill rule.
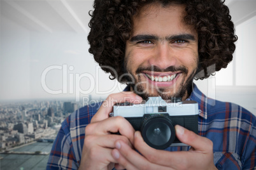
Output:
[[[0,150],[42,138],[54,140],[62,121],[82,106],[81,102],[61,100],[0,104]]]

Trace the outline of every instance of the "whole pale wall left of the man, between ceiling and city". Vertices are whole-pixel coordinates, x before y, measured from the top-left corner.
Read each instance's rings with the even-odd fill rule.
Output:
[[[1,20],[0,100],[106,96],[124,89],[99,68],[88,52],[87,34],[35,32]],[[41,84],[43,72],[46,88]],[[66,67],[66,70],[65,70]],[[76,77],[78,76],[78,77]],[[71,82],[71,84],[69,84]],[[78,86],[78,88],[76,87]],[[45,89],[61,90],[53,95]],[[81,92],[81,93],[80,93]],[[83,94],[82,94],[83,93]]]

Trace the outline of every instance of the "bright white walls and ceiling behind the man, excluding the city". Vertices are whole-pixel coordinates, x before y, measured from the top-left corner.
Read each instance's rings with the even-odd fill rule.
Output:
[[[87,0],[1,0],[1,101],[104,98],[124,88],[110,81],[88,52],[92,4]],[[256,0],[225,4],[239,37],[234,60],[216,76],[196,84],[206,95],[238,103],[255,114]]]

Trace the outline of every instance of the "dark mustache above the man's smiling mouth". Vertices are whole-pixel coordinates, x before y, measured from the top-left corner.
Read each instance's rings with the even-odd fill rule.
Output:
[[[143,71],[149,71],[149,72],[184,72],[185,74],[188,74],[188,69],[186,67],[180,66],[180,67],[174,67],[173,65],[170,67],[167,67],[166,69],[160,69],[159,67],[152,65],[149,67],[139,67],[136,70],[136,74],[139,74]]]

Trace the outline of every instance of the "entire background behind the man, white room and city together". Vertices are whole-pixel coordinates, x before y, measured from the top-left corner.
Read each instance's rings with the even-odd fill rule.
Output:
[[[256,0],[225,4],[238,35],[234,60],[195,83],[207,96],[256,114]],[[0,169],[45,169],[60,122],[89,101],[124,89],[88,52],[92,5],[0,0]]]

